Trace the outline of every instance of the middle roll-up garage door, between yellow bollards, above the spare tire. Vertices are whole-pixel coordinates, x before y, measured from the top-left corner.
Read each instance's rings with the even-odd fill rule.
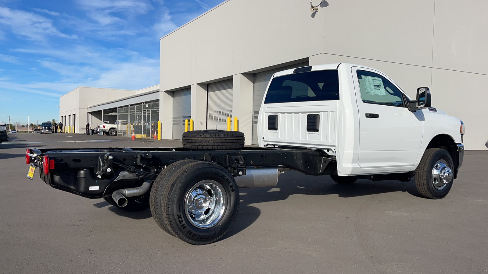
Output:
[[[207,129],[227,129],[227,117],[232,117],[232,79],[207,86]]]

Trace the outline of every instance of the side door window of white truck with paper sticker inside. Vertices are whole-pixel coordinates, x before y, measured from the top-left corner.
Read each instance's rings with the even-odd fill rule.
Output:
[[[385,77],[364,70],[356,73],[364,103],[405,107],[402,92]]]

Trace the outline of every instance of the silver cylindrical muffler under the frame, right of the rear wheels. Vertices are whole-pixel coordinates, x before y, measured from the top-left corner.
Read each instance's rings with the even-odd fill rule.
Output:
[[[246,175],[236,176],[237,186],[239,188],[245,187],[271,187],[278,183],[278,175],[287,171],[281,166],[265,166],[265,167],[247,167]]]

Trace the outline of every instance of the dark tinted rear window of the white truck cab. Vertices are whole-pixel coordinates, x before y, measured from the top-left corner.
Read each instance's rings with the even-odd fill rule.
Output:
[[[308,71],[273,78],[264,103],[325,100],[339,100],[337,70]]]

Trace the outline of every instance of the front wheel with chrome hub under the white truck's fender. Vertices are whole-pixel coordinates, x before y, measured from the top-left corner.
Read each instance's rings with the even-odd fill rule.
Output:
[[[451,190],[453,173],[454,163],[449,153],[444,149],[429,148],[415,171],[417,191],[429,199],[442,199]]]

